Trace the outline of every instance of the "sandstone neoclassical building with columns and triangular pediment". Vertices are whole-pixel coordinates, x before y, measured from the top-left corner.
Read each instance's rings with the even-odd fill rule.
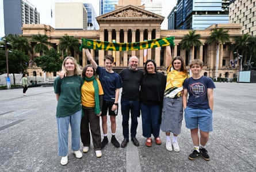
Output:
[[[59,39],[64,36],[64,34],[74,36],[75,38],[78,38],[80,42],[81,38],[110,42],[139,42],[165,36],[173,36],[175,38],[175,45],[171,48],[173,57],[183,57],[186,65],[188,65],[189,53],[186,52],[186,50],[181,49],[179,43],[184,35],[189,33],[189,30],[161,30],[163,19],[164,17],[162,15],[144,10],[142,7],[124,4],[124,6],[120,6],[116,10],[97,17],[97,21],[100,24],[100,30],[56,30],[49,25],[23,25],[22,35],[30,38],[33,34],[46,34],[49,38],[49,42],[54,44],[57,48]],[[207,40],[209,36],[211,36],[213,28],[224,28],[225,30],[228,30],[228,34],[230,34],[231,42],[220,45],[219,57],[216,57],[216,45],[207,44]],[[235,66],[230,64],[230,61],[235,60],[236,57],[234,57],[234,54],[228,49],[228,46],[234,43],[235,37],[241,36],[240,29],[241,27],[239,24],[216,24],[209,26],[207,29],[196,31],[197,34],[201,34],[200,41],[202,42],[202,45],[197,50],[193,49],[192,59],[200,58],[204,61],[203,73],[205,76],[215,78],[217,69],[217,77],[226,77],[229,79],[236,77],[236,73],[239,71],[239,62]],[[95,61],[97,61],[100,66],[104,66],[104,56],[106,54],[112,54],[116,58],[116,63],[114,65],[114,69],[116,70],[127,68],[128,59],[131,56],[137,56],[139,58],[139,68],[143,68],[145,60],[152,59],[155,60],[158,69],[165,70],[165,47],[147,49],[146,58],[144,58],[144,50],[129,50],[122,52],[105,50],[90,51],[95,58]],[[82,67],[87,64],[84,49],[79,54],[75,54],[74,57],[80,62]],[[217,64],[216,58],[218,58],[217,61],[219,61]],[[33,71],[30,73],[32,72]]]

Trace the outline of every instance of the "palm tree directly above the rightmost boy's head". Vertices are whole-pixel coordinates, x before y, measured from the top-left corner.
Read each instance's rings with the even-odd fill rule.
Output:
[[[188,34],[184,35],[184,38],[182,38],[181,42],[179,42],[181,49],[185,49],[189,52],[189,63],[192,60],[193,49],[198,49],[202,45],[200,38],[201,35],[196,34],[196,30],[190,30]]]

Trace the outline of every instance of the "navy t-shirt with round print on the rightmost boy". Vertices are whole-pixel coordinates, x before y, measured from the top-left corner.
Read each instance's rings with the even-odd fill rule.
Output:
[[[215,84],[211,78],[202,76],[200,79],[193,79],[193,77],[190,77],[184,81],[183,87],[188,89],[188,107],[196,109],[210,108],[207,97],[207,89],[215,88]]]

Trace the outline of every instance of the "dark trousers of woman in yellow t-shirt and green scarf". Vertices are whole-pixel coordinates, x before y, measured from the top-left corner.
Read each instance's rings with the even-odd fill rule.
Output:
[[[100,117],[94,114],[94,108],[83,108],[81,120],[81,140],[83,146],[90,146],[90,131],[94,150],[101,150]]]

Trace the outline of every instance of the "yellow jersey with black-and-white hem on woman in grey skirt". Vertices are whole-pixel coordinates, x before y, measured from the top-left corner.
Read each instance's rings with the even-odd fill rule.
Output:
[[[183,71],[176,71],[171,69],[171,65],[167,69],[167,79],[166,79],[166,88],[165,96],[174,98],[175,96],[181,96],[181,91],[183,90],[183,83],[188,74]]]

